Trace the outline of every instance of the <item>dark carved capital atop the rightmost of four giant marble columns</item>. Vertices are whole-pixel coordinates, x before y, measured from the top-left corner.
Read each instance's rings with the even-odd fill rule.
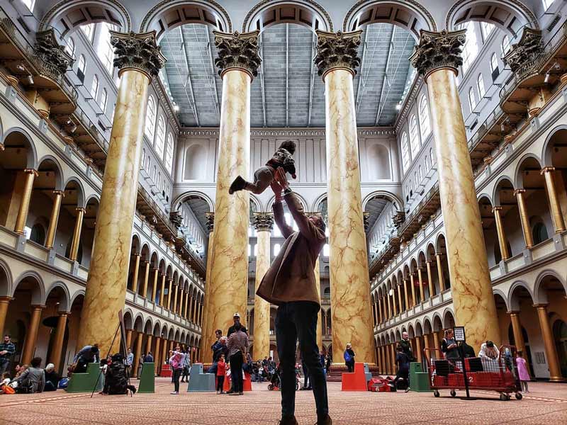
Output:
[[[415,45],[410,62],[426,78],[431,72],[442,68],[459,72],[463,64],[461,52],[465,40],[466,30],[442,30],[439,33],[420,30],[420,42]]]

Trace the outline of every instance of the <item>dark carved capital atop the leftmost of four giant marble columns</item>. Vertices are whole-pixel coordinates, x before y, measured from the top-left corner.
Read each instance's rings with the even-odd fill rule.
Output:
[[[166,58],[156,43],[155,31],[149,33],[118,33],[111,31],[111,45],[114,47],[114,66],[118,74],[125,69],[136,69],[152,78],[162,69]]]

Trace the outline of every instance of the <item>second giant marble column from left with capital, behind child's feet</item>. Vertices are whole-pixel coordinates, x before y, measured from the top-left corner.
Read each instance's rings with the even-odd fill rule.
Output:
[[[208,320],[204,346],[215,339],[215,329],[226,331],[232,314],[247,310],[249,196],[247,191],[228,194],[240,174],[249,176],[250,86],[257,75],[259,31],[219,33],[216,66],[223,79],[220,105],[218,173],[215,198],[215,239],[208,282]],[[244,324],[248,326],[248,324]]]

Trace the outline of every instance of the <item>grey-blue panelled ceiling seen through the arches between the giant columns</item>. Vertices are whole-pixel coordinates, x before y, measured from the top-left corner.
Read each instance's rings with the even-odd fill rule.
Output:
[[[414,77],[408,62],[415,44],[408,31],[389,23],[364,26],[354,78],[359,126],[393,125],[395,106]],[[187,24],[160,41],[168,61],[162,81],[188,127],[215,127],[222,81],[214,66],[213,28]],[[252,82],[252,127],[324,127],[325,90],[313,64],[316,38],[309,28],[280,24],[260,35],[262,67]]]

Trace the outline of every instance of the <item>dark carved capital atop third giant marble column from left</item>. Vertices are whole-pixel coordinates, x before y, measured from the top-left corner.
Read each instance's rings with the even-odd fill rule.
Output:
[[[351,33],[328,33],[316,30],[317,55],[313,62],[318,68],[318,74],[325,80],[325,75],[333,69],[347,69],[353,77],[360,65],[358,57],[360,35],[362,30]]]

